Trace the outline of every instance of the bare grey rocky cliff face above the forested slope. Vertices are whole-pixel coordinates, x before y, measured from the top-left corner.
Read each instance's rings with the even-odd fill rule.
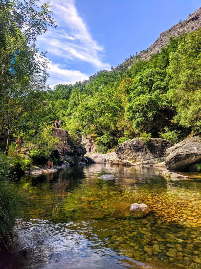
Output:
[[[137,59],[148,60],[151,55],[156,54],[157,51],[161,51],[161,48],[169,44],[170,36],[175,38],[179,37],[181,34],[188,34],[191,31],[195,32],[201,27],[201,7],[197,9],[194,13],[190,14],[188,19],[183,22],[177,23],[172,28],[164,31],[160,34],[159,38],[147,49],[140,52],[137,56],[123,62],[118,68],[131,66]]]

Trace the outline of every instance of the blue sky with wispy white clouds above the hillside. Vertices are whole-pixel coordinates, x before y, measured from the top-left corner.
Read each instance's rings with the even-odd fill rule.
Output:
[[[49,0],[57,28],[37,41],[47,51],[51,87],[110,70],[187,19],[201,0]]]

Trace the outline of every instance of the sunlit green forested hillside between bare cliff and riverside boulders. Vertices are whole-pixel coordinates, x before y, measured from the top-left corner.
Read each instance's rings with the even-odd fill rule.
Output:
[[[170,37],[160,53],[130,69],[57,85],[47,100],[72,137],[92,135],[106,151],[141,133],[171,139],[201,132],[200,75],[201,29]]]

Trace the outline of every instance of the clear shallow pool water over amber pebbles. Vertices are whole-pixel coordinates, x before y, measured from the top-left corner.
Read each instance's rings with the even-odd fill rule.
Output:
[[[23,176],[16,187],[32,207],[18,221],[16,252],[0,267],[201,268],[201,174],[183,181],[155,171],[92,164]],[[116,178],[98,178],[104,174]],[[111,217],[131,203],[152,211],[141,219]]]

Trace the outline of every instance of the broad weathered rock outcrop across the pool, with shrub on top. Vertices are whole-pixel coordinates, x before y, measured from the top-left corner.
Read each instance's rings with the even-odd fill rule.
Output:
[[[165,152],[172,144],[165,139],[151,138],[148,143],[141,139],[129,139],[115,147],[117,157],[111,158],[114,164],[153,165],[165,160]]]

